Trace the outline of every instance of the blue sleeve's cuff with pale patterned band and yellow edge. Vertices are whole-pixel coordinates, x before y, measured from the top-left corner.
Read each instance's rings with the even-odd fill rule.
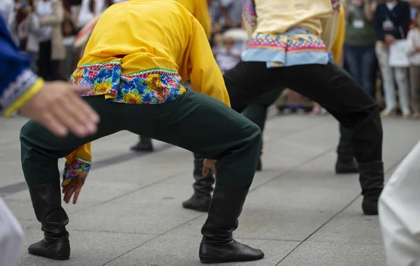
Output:
[[[10,83],[1,96],[1,104],[6,110],[5,116],[11,116],[18,111],[29,99],[34,97],[41,87],[43,80],[38,78],[30,69],[20,73],[13,83]]]

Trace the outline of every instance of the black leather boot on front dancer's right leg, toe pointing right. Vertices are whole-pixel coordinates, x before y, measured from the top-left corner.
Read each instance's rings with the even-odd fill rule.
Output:
[[[214,188],[209,216],[202,227],[200,260],[203,263],[221,263],[260,260],[264,253],[232,238],[238,227],[248,190],[235,190],[225,186]]]

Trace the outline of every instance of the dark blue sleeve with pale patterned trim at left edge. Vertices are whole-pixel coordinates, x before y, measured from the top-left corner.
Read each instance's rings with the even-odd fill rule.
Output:
[[[0,16],[1,17],[1,16]],[[19,52],[3,18],[0,18],[0,102],[7,109],[34,85],[38,77],[31,60]]]

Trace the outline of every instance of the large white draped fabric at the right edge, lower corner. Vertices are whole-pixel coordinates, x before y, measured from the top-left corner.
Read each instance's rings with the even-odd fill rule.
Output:
[[[420,141],[402,160],[379,198],[388,266],[420,266]]]

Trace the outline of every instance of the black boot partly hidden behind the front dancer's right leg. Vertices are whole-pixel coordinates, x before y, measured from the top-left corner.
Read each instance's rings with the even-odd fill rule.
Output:
[[[209,210],[214,176],[211,170],[209,170],[209,174],[203,176],[203,162],[204,158],[202,156],[194,154],[194,194],[189,200],[182,203],[182,206],[186,209],[193,209],[195,211]]]

